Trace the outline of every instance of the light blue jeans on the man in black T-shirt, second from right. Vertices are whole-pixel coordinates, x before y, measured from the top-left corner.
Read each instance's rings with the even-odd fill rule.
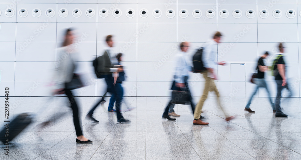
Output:
[[[250,108],[250,105],[251,105],[251,101],[253,99],[253,96],[256,94],[256,92],[258,91],[258,88],[259,87],[263,87],[265,88],[266,92],[268,93],[268,99],[270,100],[270,103],[271,103],[271,106],[272,106],[272,109],[275,110],[275,104],[273,103],[272,101],[272,98],[271,98],[271,94],[270,92],[268,91],[268,86],[264,80],[264,78],[254,78],[254,83],[256,84],[256,87],[255,87],[255,90],[254,92],[252,93],[247,105],[246,105],[246,109]]]

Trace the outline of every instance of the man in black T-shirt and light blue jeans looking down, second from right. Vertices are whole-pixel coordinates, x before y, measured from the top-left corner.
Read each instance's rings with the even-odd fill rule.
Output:
[[[268,52],[265,52],[264,55],[262,55],[259,60],[258,60],[258,63],[257,63],[257,70],[258,70],[258,74],[256,76],[256,78],[253,78],[253,81],[254,83],[256,84],[256,87],[255,87],[255,90],[254,92],[252,93],[246,107],[245,107],[245,111],[248,111],[250,113],[254,113],[255,111],[251,110],[250,109],[250,105],[251,105],[251,101],[253,99],[253,96],[256,94],[256,92],[258,91],[258,88],[259,87],[263,87],[266,89],[266,92],[268,93],[268,99],[270,100],[270,103],[271,103],[271,106],[272,106],[272,109],[273,109],[273,112],[275,112],[275,104],[272,102],[272,98],[271,98],[271,94],[270,92],[268,91],[268,86],[265,82],[265,79],[264,79],[264,73],[265,71],[267,71],[268,69],[268,66],[265,66],[264,65],[264,62],[263,62],[263,59],[265,59],[266,57],[268,57],[269,53]]]

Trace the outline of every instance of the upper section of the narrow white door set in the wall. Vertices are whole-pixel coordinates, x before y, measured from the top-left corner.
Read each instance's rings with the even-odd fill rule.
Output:
[[[231,63],[231,82],[246,82],[246,65]]]

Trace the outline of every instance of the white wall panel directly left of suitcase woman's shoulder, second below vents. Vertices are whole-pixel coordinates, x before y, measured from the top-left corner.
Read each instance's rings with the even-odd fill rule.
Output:
[[[55,61],[55,42],[25,44],[26,42],[16,42],[16,61]]]

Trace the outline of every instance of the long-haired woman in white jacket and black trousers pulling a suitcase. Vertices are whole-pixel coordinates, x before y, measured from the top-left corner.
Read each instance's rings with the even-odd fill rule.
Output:
[[[59,48],[58,51],[58,59],[57,59],[57,72],[55,76],[56,82],[56,90],[54,90],[55,94],[63,94],[65,93],[68,96],[68,99],[71,103],[71,108],[73,110],[73,123],[76,131],[76,143],[90,144],[91,140],[85,138],[82,134],[81,122],[79,119],[79,110],[76,103],[76,99],[73,96],[71,90],[76,89],[74,84],[70,83],[72,79],[76,76],[74,71],[77,66],[77,57],[78,53],[73,47],[73,32],[72,29],[67,29],[63,46]]]

